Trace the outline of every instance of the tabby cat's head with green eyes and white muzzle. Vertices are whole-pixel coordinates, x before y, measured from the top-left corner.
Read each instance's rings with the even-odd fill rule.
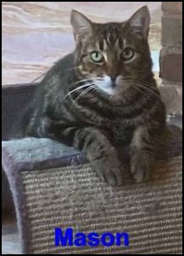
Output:
[[[103,92],[114,95],[151,72],[148,35],[150,13],[139,8],[128,20],[93,23],[73,10],[71,25],[76,40],[75,65],[81,77],[93,79]]]

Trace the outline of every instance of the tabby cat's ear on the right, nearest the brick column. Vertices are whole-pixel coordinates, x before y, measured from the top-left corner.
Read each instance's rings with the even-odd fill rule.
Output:
[[[147,6],[139,8],[129,19],[130,26],[135,33],[147,39],[150,30],[150,12]]]

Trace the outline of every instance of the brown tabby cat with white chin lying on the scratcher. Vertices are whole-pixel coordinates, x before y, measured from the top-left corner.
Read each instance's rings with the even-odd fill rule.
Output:
[[[152,73],[149,10],[106,24],[73,10],[71,25],[76,49],[45,75],[22,136],[49,137],[85,152],[110,185],[123,183],[120,152],[128,146],[133,179],[148,180],[166,127]]]

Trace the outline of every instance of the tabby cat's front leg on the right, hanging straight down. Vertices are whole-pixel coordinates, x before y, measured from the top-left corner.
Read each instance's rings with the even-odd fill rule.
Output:
[[[130,144],[130,171],[136,182],[150,179],[155,165],[155,136],[144,126],[138,127]]]

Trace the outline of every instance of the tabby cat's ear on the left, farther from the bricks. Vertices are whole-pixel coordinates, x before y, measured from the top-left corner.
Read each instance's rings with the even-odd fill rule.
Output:
[[[92,35],[92,21],[76,10],[71,11],[71,25],[76,40]]]

